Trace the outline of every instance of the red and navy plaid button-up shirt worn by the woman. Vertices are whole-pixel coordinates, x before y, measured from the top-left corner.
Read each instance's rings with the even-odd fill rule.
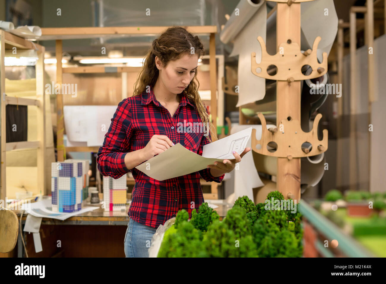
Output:
[[[143,92],[140,96],[126,98],[118,104],[103,146],[99,148],[97,164],[103,176],[114,179],[132,172],[135,185],[128,215],[134,221],[158,228],[160,224],[175,217],[181,209],[188,211],[191,218],[191,211],[194,208],[198,210],[204,202],[200,175],[207,182],[221,182],[224,178],[224,175],[213,177],[210,168],[205,168],[159,181],[136,168],[126,167],[126,153],[144,148],[154,134],[166,135],[174,144],[180,143],[188,150],[202,155],[203,146],[209,143],[207,137],[199,132],[177,132],[177,126],[181,125],[178,122],[183,124],[184,120],[185,124],[202,122],[195,105],[182,94],[173,117],[156,100],[152,87],[149,93]]]

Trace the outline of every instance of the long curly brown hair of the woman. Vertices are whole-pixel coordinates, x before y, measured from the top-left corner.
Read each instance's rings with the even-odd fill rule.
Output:
[[[198,54],[198,58],[205,55],[204,46],[198,36],[193,36],[193,34],[180,26],[173,26],[166,29],[166,31],[164,31],[157,39],[154,39],[152,47],[149,48],[149,51],[147,52],[143,67],[134,84],[133,96],[141,95],[142,92],[146,90],[147,86],[154,86],[156,83],[159,75],[159,70],[157,69],[155,61],[156,56],[161,60],[162,65],[166,67],[171,60],[178,60],[185,54],[192,54],[192,48],[194,48],[194,54]],[[200,83],[197,80],[197,72],[198,69],[188,87],[184,90],[184,95],[196,106],[201,121],[210,126],[210,135],[212,136],[212,139],[210,139],[209,135],[207,136],[207,139],[212,142],[212,140],[217,140],[217,131],[214,130],[214,126],[209,119],[205,105],[198,94]]]

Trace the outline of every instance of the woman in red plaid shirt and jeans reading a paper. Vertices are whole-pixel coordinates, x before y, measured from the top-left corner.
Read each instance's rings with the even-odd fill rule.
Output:
[[[191,211],[204,202],[200,176],[221,182],[251,150],[246,148],[241,155],[235,152],[235,159],[163,181],[135,168],[176,143],[202,155],[203,146],[212,142],[210,134],[217,139],[198,94],[197,63],[203,55],[198,36],[183,27],[170,27],[155,39],[135,82],[134,95],[119,103],[99,148],[97,163],[102,175],[117,179],[132,172],[135,179],[124,239],[126,257],[148,257],[151,238],[160,224],[181,209],[191,217]],[[211,131],[209,135],[204,131],[181,133],[177,125],[184,122],[210,125]]]

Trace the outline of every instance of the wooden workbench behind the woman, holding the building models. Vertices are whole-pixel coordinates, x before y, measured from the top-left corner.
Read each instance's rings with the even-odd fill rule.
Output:
[[[218,207],[214,210],[222,220],[231,206],[225,202],[216,205]],[[124,237],[130,219],[127,214],[130,205],[126,205],[125,211],[104,211],[102,203],[90,204],[86,199],[82,206],[98,206],[99,208],[72,216],[64,221],[42,218],[40,227],[42,252],[35,252],[32,234],[23,231],[28,256],[125,257]],[[20,219],[20,211],[15,211],[15,213]],[[27,214],[23,213],[22,228],[24,228],[26,218]],[[58,247],[59,244],[60,247]],[[20,232],[15,248],[17,248],[17,257],[25,257]]]

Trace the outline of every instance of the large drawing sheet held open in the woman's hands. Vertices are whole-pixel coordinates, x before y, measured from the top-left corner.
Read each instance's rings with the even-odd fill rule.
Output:
[[[234,158],[232,150],[237,151],[239,154],[242,153],[246,142],[251,137],[251,132],[252,128],[250,127],[239,133],[209,143],[203,147],[202,156],[177,143],[135,168],[156,180],[173,179],[174,177],[194,173],[207,168],[208,165],[213,164],[215,161],[223,162],[223,159],[230,158],[231,155]]]

